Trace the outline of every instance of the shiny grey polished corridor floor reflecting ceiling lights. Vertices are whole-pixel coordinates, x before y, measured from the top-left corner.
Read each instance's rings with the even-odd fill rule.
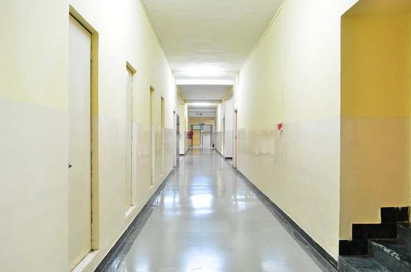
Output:
[[[105,271],[321,271],[229,162],[193,149]]]

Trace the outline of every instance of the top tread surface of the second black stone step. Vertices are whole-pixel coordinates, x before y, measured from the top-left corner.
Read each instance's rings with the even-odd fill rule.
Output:
[[[411,266],[411,246],[402,240],[374,240],[371,241],[374,246],[378,247],[392,258]]]

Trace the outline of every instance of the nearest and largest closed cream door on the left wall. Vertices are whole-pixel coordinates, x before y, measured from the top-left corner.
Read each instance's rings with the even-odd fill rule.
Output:
[[[91,250],[91,35],[70,16],[68,258],[73,269]]]

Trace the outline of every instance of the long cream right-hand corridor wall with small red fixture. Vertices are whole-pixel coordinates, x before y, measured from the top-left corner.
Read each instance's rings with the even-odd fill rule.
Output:
[[[283,2],[233,90],[238,170],[335,259],[340,28],[354,2]],[[278,122],[285,123],[283,132]]]

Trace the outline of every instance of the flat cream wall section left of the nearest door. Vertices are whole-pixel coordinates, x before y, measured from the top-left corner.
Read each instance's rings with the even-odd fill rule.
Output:
[[[0,267],[65,271],[68,3],[0,9]]]

